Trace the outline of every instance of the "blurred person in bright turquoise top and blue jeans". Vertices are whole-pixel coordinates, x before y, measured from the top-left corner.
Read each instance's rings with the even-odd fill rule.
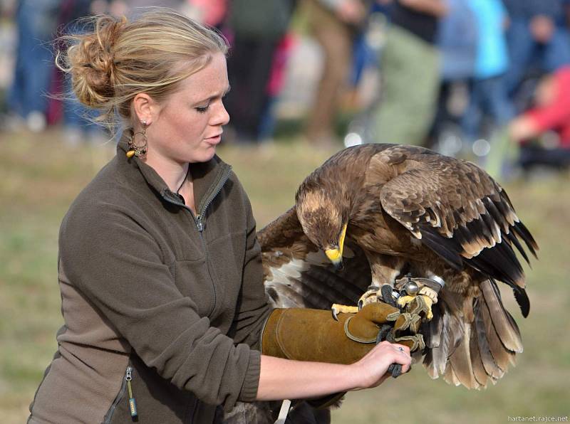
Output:
[[[467,145],[475,149],[478,157],[484,157],[492,152],[487,141],[492,133],[495,129],[500,131],[514,116],[504,80],[509,69],[505,37],[508,15],[501,0],[469,0],[469,4],[477,22],[477,58],[462,128]],[[494,128],[486,134],[482,127],[484,117],[492,121]],[[482,138],[486,140],[473,145]]]

